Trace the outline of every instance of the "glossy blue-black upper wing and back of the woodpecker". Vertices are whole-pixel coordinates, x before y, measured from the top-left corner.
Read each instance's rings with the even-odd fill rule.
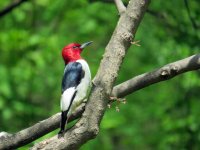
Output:
[[[77,87],[84,77],[85,72],[79,62],[71,62],[65,67],[62,79],[62,93],[70,88]]]

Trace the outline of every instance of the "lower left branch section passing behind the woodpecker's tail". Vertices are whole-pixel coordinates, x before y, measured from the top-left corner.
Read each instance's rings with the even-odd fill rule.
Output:
[[[81,104],[75,113],[73,113],[69,122],[79,118],[85,109],[85,103]],[[39,123],[21,130],[15,134],[3,133],[0,136],[0,149],[16,149],[20,146],[26,145],[41,136],[57,129],[60,123],[60,113],[51,116],[48,119],[40,121]]]

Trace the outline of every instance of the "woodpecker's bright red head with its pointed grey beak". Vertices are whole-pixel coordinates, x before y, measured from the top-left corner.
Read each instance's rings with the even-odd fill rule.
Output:
[[[63,60],[65,61],[65,64],[81,59],[82,50],[91,43],[92,42],[86,42],[83,43],[82,45],[78,43],[71,43],[65,46],[62,50],[62,56]]]

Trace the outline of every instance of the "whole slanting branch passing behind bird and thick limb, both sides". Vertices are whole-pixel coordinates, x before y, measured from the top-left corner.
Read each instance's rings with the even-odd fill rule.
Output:
[[[175,71],[175,70],[176,71]],[[149,85],[169,80],[182,73],[200,69],[200,54],[167,64],[154,71],[133,77],[113,88],[112,96],[124,97]],[[175,72],[174,72],[175,71]],[[164,75],[164,76],[163,76]],[[83,103],[69,119],[69,122],[80,118],[85,108]],[[0,149],[14,149],[28,144],[35,139],[57,129],[59,127],[60,113],[45,119],[32,127],[24,129],[16,134],[9,134],[7,137],[0,136]],[[5,133],[4,133],[5,134]]]

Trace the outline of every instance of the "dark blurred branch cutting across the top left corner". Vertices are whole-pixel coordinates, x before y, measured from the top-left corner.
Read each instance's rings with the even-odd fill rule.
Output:
[[[15,0],[12,4],[8,5],[6,8],[0,10],[0,17],[3,17],[4,15],[11,12],[14,8],[17,8],[22,3],[26,2],[28,0]]]

